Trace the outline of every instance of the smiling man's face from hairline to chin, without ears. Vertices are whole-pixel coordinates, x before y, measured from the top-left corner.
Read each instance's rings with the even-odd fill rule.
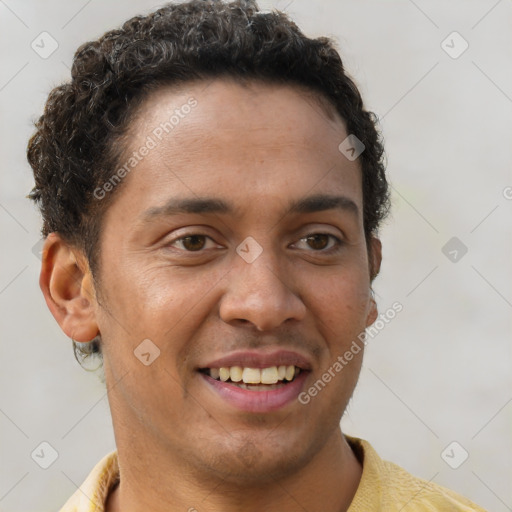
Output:
[[[337,432],[362,352],[299,394],[376,314],[344,124],[217,80],[153,93],[131,128],[126,159],[147,154],[104,217],[95,306],[116,437],[225,479],[292,472]]]

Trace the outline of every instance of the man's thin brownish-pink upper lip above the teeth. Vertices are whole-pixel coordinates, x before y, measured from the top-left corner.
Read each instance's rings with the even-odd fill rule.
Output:
[[[246,350],[233,352],[227,356],[215,359],[200,368],[229,368],[242,366],[244,368],[268,368],[270,366],[297,366],[302,370],[311,370],[309,359],[291,350],[275,350],[273,352],[258,352]]]

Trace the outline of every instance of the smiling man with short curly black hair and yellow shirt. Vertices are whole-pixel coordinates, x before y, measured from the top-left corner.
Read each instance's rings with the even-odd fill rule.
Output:
[[[389,201],[327,39],[167,5],[77,51],[28,156],[41,288],[117,444],[63,512],[482,510],[340,430]]]

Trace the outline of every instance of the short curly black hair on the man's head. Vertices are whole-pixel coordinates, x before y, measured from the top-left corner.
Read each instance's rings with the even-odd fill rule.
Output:
[[[58,232],[81,249],[94,277],[101,220],[120,187],[101,201],[94,191],[119,165],[137,107],[160,86],[217,77],[296,85],[328,100],[365,145],[364,231],[367,240],[377,233],[390,204],[384,149],[376,116],[332,41],[306,37],[284,13],[260,12],[254,0],[190,0],[83,44],[71,81],[51,91],[27,150],[35,178],[29,198],[42,212],[43,236]]]

